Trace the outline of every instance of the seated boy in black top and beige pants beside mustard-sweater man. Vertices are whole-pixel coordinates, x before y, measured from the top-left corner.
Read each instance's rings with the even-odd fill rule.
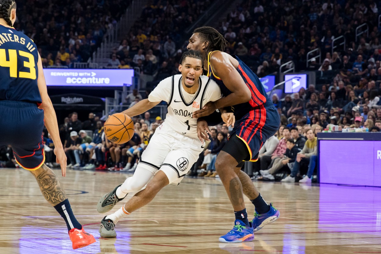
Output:
[[[301,151],[294,143],[292,138],[289,138],[286,143],[287,149],[283,158],[276,158],[272,167],[267,170],[259,170],[262,177],[268,180],[275,180],[274,174],[282,167],[288,165],[289,169],[293,168],[293,164],[296,159],[296,155]]]

